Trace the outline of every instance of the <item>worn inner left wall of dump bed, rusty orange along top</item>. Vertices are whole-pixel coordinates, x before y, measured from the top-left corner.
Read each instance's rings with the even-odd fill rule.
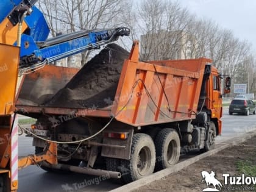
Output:
[[[18,93],[19,105],[43,105],[79,71],[76,68],[46,65],[34,73],[23,76]]]

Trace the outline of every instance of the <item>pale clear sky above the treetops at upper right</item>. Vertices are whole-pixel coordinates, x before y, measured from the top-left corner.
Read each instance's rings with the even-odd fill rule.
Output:
[[[255,0],[178,0],[199,18],[207,18],[223,29],[232,30],[235,37],[247,40],[256,53]]]

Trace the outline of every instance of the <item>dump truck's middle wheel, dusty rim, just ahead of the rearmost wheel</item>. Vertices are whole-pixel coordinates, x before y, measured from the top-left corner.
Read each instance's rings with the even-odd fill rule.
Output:
[[[169,128],[161,130],[155,138],[155,151],[156,171],[176,164],[180,158],[180,138],[176,130]]]

